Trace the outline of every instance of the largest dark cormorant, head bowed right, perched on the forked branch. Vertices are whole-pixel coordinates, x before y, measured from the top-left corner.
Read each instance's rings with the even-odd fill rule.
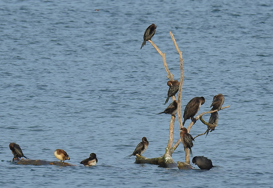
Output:
[[[194,118],[194,116],[197,114],[198,110],[200,109],[200,106],[204,103],[205,103],[204,97],[192,98],[185,107],[183,115],[184,121],[182,125],[185,124],[187,119],[191,119],[191,121],[195,123],[197,120]]]

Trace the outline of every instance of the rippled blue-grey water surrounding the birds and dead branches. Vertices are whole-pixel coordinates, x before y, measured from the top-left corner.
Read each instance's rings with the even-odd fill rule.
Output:
[[[272,1],[1,1],[0,186],[272,187],[272,15]],[[167,146],[170,115],[155,115],[167,107],[166,72],[149,42],[140,50],[152,23],[175,79],[169,31],[183,51],[182,112],[195,96],[206,99],[200,112],[218,93],[231,105],[216,130],[194,142],[194,156],[217,166],[209,171],[123,159],[143,136],[145,157]],[[198,121],[190,134],[205,129]],[[91,152],[99,161],[15,165],[10,142],[31,159],[54,161],[61,148],[69,163]],[[181,144],[173,158],[184,160]]]

